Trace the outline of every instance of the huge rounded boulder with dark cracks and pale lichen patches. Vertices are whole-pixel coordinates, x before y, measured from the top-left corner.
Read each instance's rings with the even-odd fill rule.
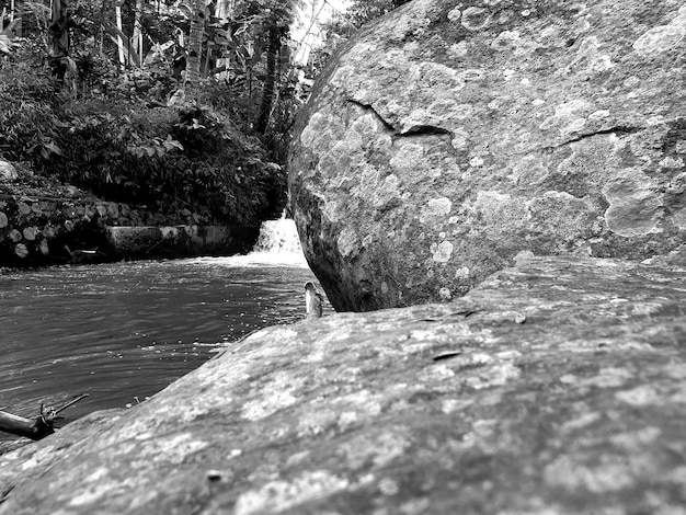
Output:
[[[686,242],[686,2],[415,0],[319,80],[293,142],[338,310],[468,291],[521,251]]]

